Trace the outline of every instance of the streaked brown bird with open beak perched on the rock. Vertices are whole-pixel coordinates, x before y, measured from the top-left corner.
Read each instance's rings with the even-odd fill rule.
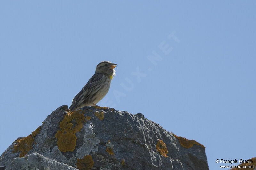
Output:
[[[98,106],[96,104],[108,93],[111,80],[115,76],[116,66],[117,64],[109,61],[100,62],[95,74],[72,100],[69,109],[77,110],[84,106]]]

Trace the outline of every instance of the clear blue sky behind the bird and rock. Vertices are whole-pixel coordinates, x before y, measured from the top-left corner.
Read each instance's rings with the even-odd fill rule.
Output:
[[[231,0],[1,1],[0,154],[70,106],[107,60],[118,67],[100,106],[198,141],[211,170],[255,157],[255,11]]]

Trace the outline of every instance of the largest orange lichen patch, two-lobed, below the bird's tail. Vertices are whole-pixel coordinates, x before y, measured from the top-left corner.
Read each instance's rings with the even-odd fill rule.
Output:
[[[77,139],[75,133],[81,130],[83,123],[86,123],[84,114],[78,111],[67,112],[63,121],[60,122],[61,130],[55,134],[60,151],[74,151]]]

